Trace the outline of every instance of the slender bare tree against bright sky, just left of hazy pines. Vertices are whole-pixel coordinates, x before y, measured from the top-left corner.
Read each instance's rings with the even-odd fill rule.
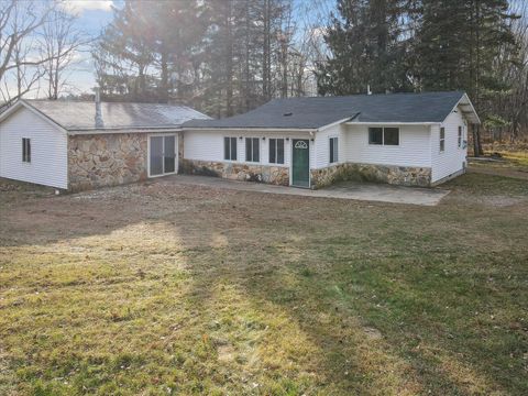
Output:
[[[46,96],[56,100],[67,84],[65,72],[89,40],[76,28],[77,16],[62,10],[53,10],[42,25],[41,58],[44,78],[47,81]]]

